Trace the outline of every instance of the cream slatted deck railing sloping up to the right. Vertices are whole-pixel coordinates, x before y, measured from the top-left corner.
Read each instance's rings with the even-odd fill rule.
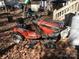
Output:
[[[79,10],[79,2],[73,1],[70,4],[62,7],[59,10],[54,10],[53,12],[53,19],[54,20],[63,20],[65,15],[68,13],[75,13]]]

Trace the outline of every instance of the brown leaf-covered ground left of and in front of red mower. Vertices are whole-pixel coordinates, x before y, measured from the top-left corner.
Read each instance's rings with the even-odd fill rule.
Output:
[[[14,44],[11,34],[16,18],[14,16],[14,21],[8,22],[5,14],[0,16],[0,59],[76,59],[76,50],[70,47],[46,49],[37,45],[32,49],[27,48],[26,41]]]

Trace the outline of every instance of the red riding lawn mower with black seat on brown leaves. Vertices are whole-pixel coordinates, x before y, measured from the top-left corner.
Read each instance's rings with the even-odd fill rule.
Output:
[[[41,17],[32,19],[29,24],[24,23],[22,18],[13,29],[14,42],[19,43],[22,40],[36,44],[40,41],[56,42],[59,38],[60,26],[56,22],[49,22],[49,18]],[[48,41],[47,41],[48,40]]]

